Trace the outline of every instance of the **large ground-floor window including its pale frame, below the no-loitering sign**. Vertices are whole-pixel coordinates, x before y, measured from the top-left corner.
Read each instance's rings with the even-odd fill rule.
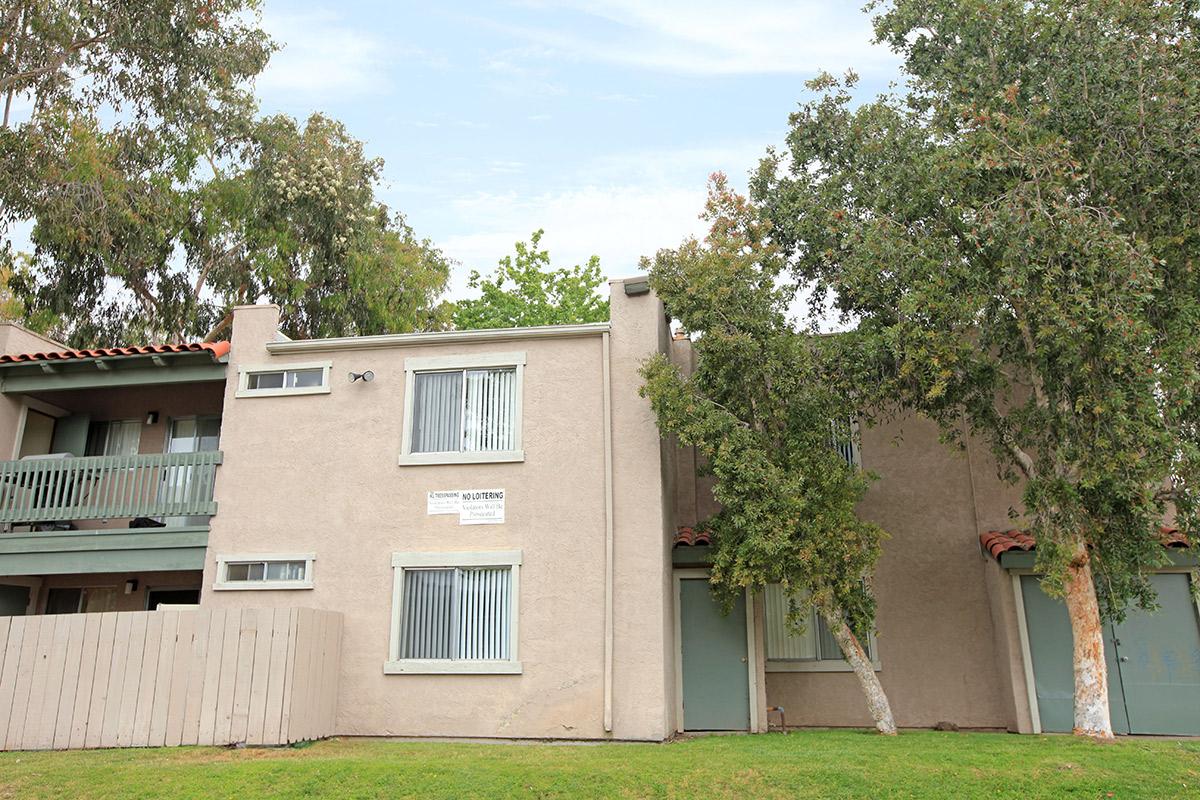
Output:
[[[386,673],[518,673],[521,554],[396,553]]]

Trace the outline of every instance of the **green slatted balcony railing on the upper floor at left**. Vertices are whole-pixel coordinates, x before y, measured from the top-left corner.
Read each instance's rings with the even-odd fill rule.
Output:
[[[216,513],[221,451],[0,462],[0,523]]]

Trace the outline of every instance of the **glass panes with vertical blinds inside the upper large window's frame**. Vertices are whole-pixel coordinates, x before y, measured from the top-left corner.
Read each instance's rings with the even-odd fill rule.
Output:
[[[412,452],[515,450],[516,391],[515,367],[416,373]]]

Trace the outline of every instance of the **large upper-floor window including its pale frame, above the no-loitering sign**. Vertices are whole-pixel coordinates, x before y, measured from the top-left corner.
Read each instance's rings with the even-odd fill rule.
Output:
[[[408,359],[401,463],[523,461],[524,354]]]

